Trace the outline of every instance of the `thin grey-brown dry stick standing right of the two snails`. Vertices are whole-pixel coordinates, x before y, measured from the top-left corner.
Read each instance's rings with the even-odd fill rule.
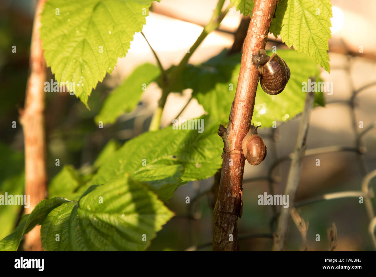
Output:
[[[299,185],[300,173],[302,171],[303,157],[307,148],[306,138],[309,127],[309,117],[315,100],[314,92],[307,92],[304,104],[302,118],[300,119],[298,137],[296,140],[294,159],[291,162],[290,171],[288,174],[285,194],[289,196],[288,208],[282,208],[279,216],[277,233],[274,237],[273,251],[282,251],[285,246],[285,241],[288,233],[288,226],[290,223],[290,210],[293,208],[295,193]]]

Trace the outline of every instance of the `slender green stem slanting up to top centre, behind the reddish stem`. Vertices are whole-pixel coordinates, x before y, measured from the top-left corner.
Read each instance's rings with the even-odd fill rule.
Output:
[[[184,55],[180,63],[174,68],[173,72],[171,73],[171,76],[167,78],[166,85],[163,85],[162,87],[162,96],[158,101],[158,108],[155,110],[152,118],[152,122],[150,123],[149,131],[156,131],[159,129],[159,125],[161,124],[161,117],[162,112],[164,109],[164,106],[166,104],[167,96],[171,92],[171,87],[173,87],[174,83],[177,80],[177,77],[182,73],[183,69],[185,68],[186,64],[188,63],[188,60],[192,56],[193,52],[196,51],[197,47],[202,43],[202,41],[206,38],[206,36],[217,29],[219,27],[219,24],[229,11],[229,9],[233,6],[232,3],[223,11],[222,7],[225,0],[219,0],[217,3],[217,6],[215,7],[215,10],[213,12],[213,15],[208,22],[208,24],[205,25],[204,29],[202,30],[200,36],[197,38],[195,43],[191,46],[189,51]]]

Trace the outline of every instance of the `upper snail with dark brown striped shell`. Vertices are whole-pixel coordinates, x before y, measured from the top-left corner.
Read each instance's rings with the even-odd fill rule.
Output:
[[[284,90],[290,79],[290,68],[277,54],[269,57],[264,49],[253,54],[252,63],[260,71],[262,90],[270,95],[276,95]]]

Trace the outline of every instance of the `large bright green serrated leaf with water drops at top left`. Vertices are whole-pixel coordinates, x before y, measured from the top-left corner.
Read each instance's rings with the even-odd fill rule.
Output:
[[[40,35],[47,65],[58,82],[74,82],[87,105],[91,90],[125,57],[146,23],[152,0],[49,0]]]

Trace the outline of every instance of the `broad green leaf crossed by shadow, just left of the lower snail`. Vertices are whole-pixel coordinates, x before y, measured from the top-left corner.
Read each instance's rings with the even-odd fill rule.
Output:
[[[165,196],[172,196],[177,185],[182,184],[179,178],[186,183],[213,176],[222,164],[223,141],[217,134],[218,121],[211,121],[209,116],[197,120],[203,122],[202,133],[170,126],[127,141],[101,165],[91,184],[103,184],[130,173],[138,181],[163,189],[160,197],[166,200]],[[183,168],[173,165],[183,166],[181,177]]]

